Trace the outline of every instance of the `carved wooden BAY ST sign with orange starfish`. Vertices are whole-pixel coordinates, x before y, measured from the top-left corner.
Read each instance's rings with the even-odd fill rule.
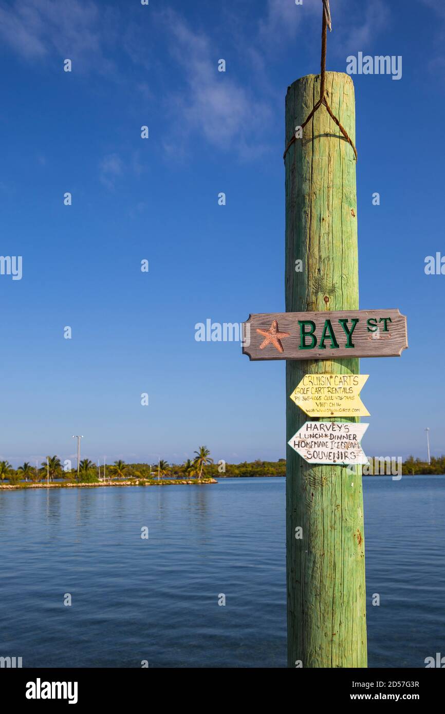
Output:
[[[261,313],[243,323],[250,360],[399,357],[408,347],[399,310]]]

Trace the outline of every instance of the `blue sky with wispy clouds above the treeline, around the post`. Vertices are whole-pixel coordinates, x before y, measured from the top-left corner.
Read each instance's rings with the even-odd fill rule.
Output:
[[[444,4],[331,13],[328,69],[403,57],[400,81],[353,78],[360,307],[409,328],[401,358],[361,361],[364,449],[424,457],[429,426],[439,455],[445,276],[424,259],[445,254]],[[78,433],[108,463],[284,456],[284,364],[194,326],[284,311],[284,98],[319,71],[320,27],[319,0],[0,0],[0,252],[23,256],[0,276],[1,458],[70,458]]]

